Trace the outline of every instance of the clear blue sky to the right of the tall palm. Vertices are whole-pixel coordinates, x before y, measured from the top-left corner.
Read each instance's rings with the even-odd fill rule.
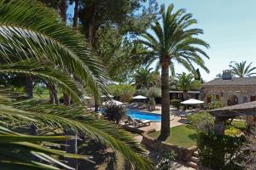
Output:
[[[211,80],[230,61],[247,60],[256,66],[256,1],[255,0],[159,0],[186,8],[198,20],[197,27],[205,31],[202,38],[210,43],[206,61],[210,74],[201,71],[204,80]],[[185,71],[177,65],[177,72]]]

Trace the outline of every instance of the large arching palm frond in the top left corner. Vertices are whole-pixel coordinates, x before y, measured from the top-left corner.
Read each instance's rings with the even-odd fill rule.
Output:
[[[65,65],[95,94],[99,88],[106,91],[108,78],[83,35],[62,25],[53,10],[35,0],[1,0],[0,6],[0,53],[6,61],[50,59]]]

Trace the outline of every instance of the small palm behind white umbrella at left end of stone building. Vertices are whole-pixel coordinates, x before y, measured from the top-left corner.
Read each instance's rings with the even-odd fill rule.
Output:
[[[183,99],[188,99],[188,91],[191,89],[199,89],[200,81],[194,80],[193,74],[177,74],[177,89],[183,91]]]

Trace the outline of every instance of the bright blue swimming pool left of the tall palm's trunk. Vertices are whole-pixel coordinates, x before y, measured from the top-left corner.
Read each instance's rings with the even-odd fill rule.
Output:
[[[149,113],[145,111],[127,110],[127,115],[131,116],[132,119],[143,119],[149,121],[160,121],[160,114]]]

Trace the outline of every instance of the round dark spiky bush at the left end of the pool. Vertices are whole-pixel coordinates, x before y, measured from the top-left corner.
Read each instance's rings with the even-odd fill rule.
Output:
[[[105,105],[104,107],[106,117],[109,121],[114,121],[116,124],[119,124],[119,122],[126,116],[126,109],[122,105],[114,105],[112,103],[109,103],[109,105]]]

